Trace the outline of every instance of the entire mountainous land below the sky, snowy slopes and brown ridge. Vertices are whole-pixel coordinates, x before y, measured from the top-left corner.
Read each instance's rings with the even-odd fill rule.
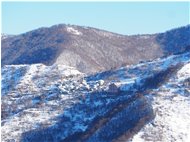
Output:
[[[190,26],[56,25],[2,37],[3,142],[189,142]]]

